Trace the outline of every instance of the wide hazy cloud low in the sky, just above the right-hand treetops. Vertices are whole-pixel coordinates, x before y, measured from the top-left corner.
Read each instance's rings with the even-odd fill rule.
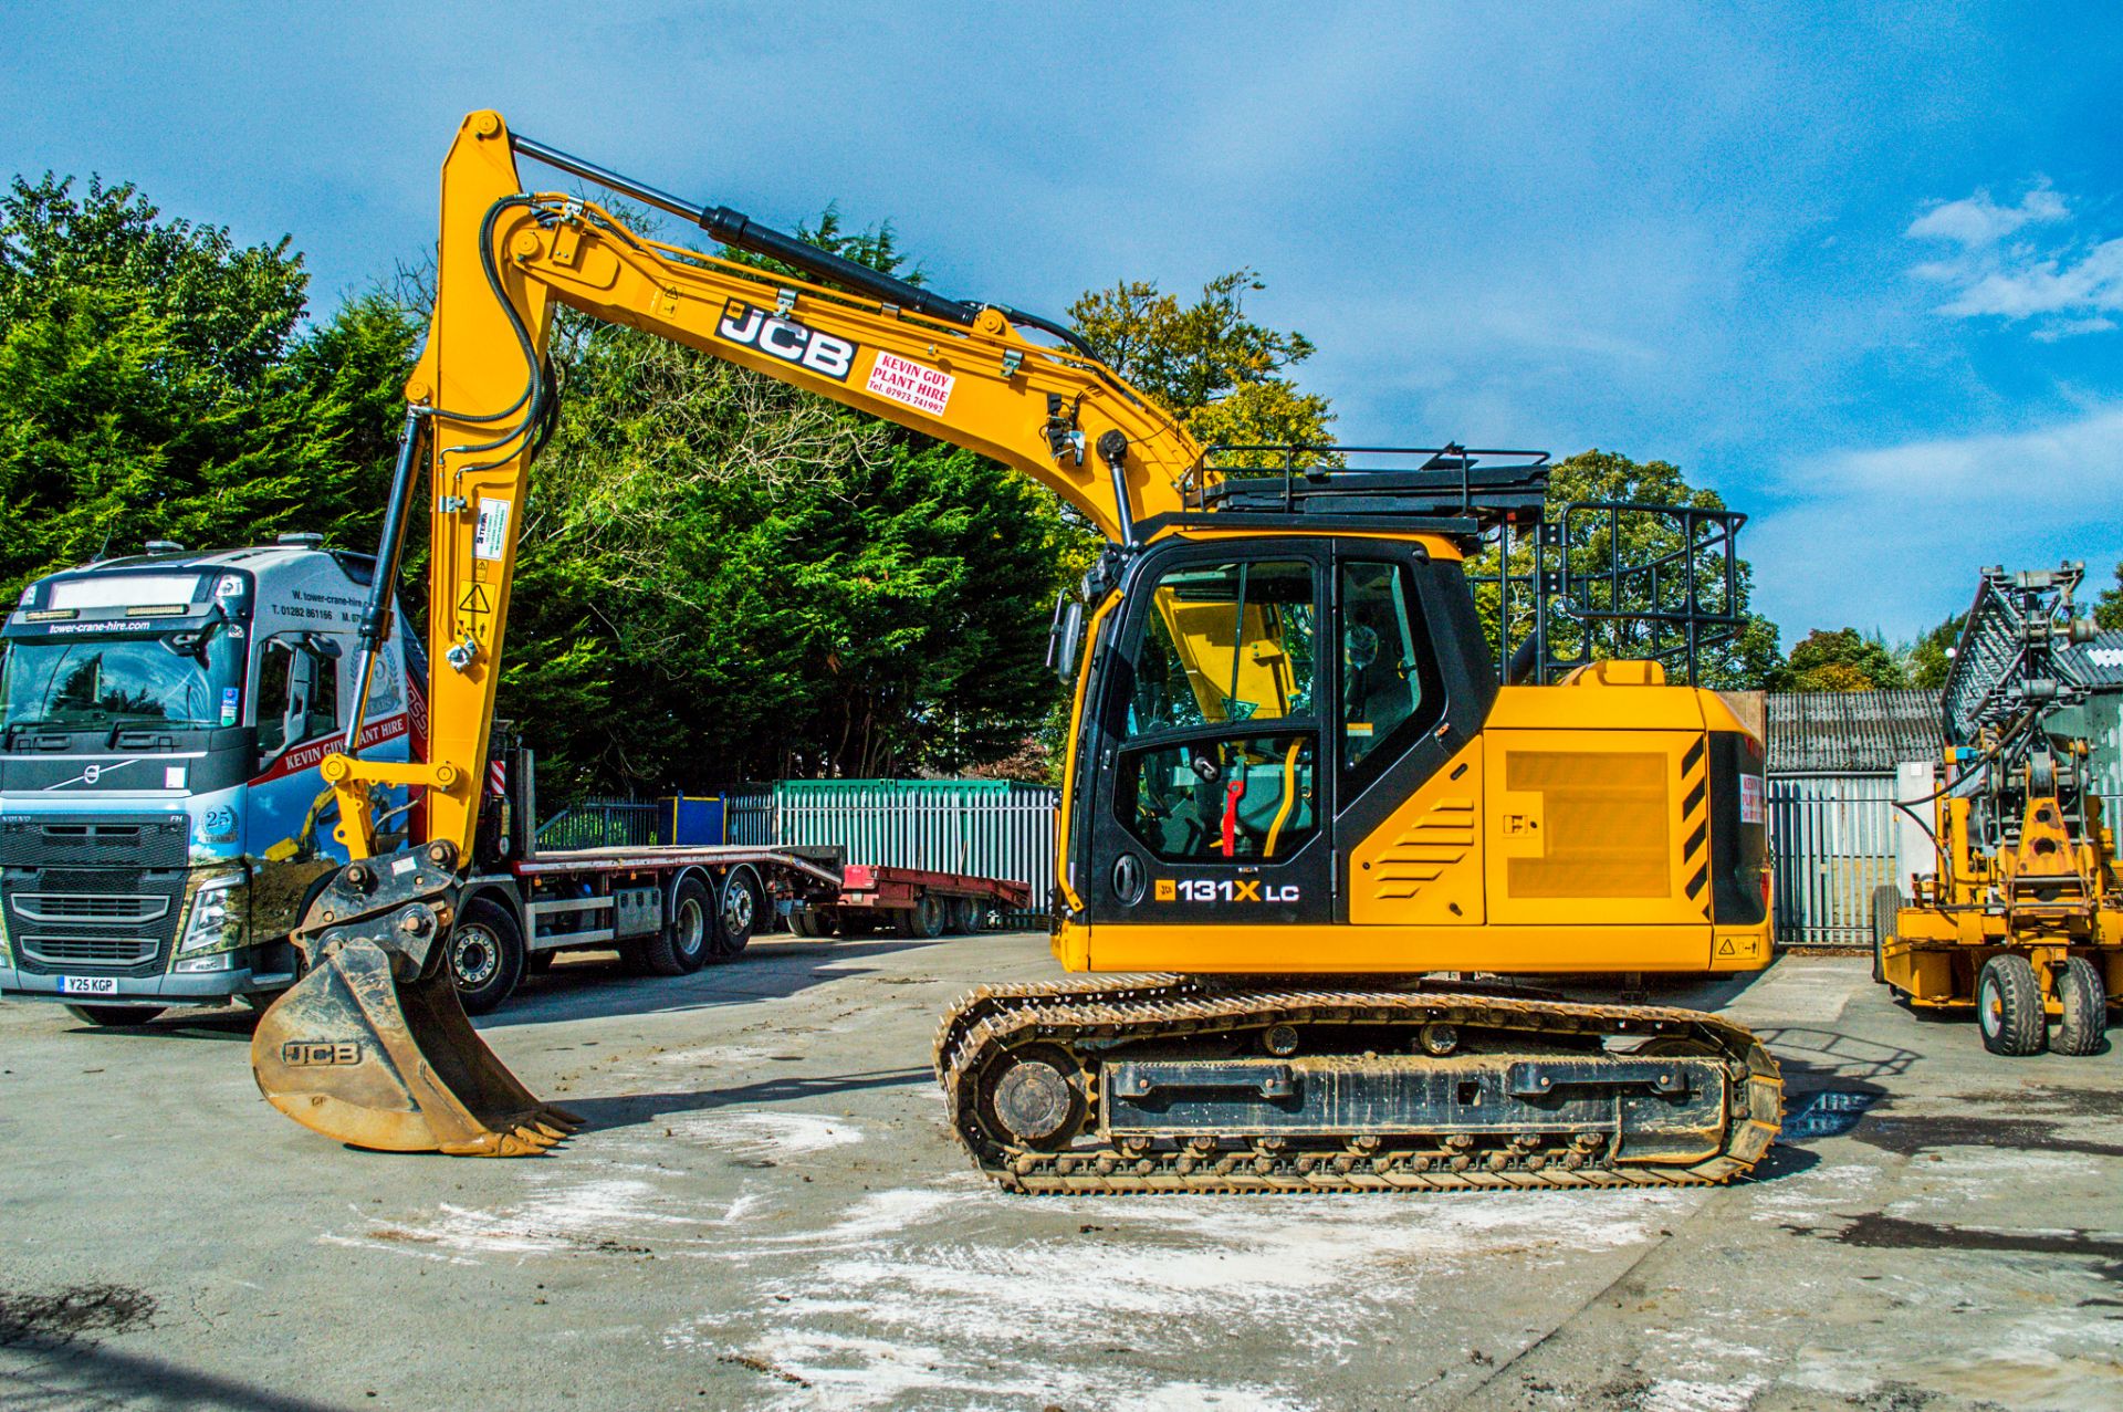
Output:
[[[2123,556],[2123,403],[2013,433],[1843,450],[1785,467],[1783,510],[1747,529],[1758,605],[1785,641],[1809,628],[1911,637],[1974,597],[1985,565]]]

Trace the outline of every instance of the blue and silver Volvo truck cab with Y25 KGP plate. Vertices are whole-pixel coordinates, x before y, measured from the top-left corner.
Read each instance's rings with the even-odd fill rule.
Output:
[[[0,628],[0,996],[138,1023],[295,981],[287,934],[346,862],[318,764],[348,728],[372,575],[284,535],[151,546],[23,590]],[[361,726],[374,758],[422,752],[418,652],[397,612]],[[378,813],[410,834],[405,790]]]

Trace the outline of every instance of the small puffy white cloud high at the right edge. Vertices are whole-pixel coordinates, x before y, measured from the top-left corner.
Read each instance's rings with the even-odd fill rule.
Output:
[[[2068,217],[2066,200],[2044,185],[2027,191],[2017,206],[1998,206],[1987,191],[1943,202],[1902,234],[1960,248],[1911,265],[1911,274],[1951,291],[1938,312],[1953,318],[2032,318],[2042,342],[2106,333],[2117,327],[2108,314],[2123,310],[2123,240],[2083,246],[2061,229],[2049,248],[2010,240],[2023,227],[2055,225]]]

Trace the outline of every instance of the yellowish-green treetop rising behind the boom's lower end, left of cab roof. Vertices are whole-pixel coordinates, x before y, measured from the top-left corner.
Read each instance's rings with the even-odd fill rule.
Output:
[[[1221,274],[1180,304],[1146,280],[1093,289],[1068,316],[1091,350],[1210,444],[1327,440],[1329,401],[1299,393],[1284,369],[1312,357],[1312,340],[1246,318],[1253,270]]]

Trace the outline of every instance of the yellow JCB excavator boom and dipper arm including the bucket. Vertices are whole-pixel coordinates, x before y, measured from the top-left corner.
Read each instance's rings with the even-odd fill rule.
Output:
[[[533,193],[518,155],[811,278],[648,240],[592,202]],[[947,299],[728,208],[679,202],[516,138],[497,113],[467,117],[442,170],[435,310],[405,384],[405,435],[350,716],[365,716],[425,471],[429,758],[365,760],[355,741],[325,760],[352,862],[297,928],[308,975],[274,1002],[253,1040],[265,1098],[357,1147],[516,1155],[573,1127],[465,1021],[437,945],[478,828],[529,469],[554,414],[546,352],[560,306],[994,457],[1055,490],[1117,544],[1134,544],[1138,522],[1183,510],[1183,476],[1202,461],[1202,448],[1155,401],[1057,325]],[[374,858],[380,786],[425,790],[425,845]]]

